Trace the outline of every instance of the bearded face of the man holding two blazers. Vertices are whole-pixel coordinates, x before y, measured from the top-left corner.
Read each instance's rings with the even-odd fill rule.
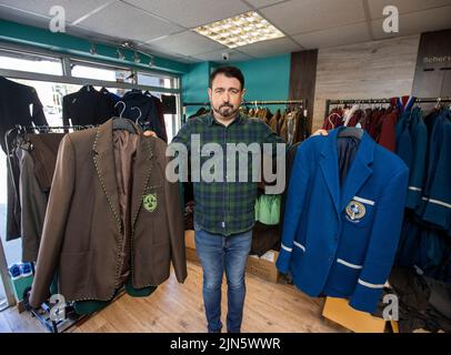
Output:
[[[235,78],[218,74],[208,93],[213,111],[223,119],[232,119],[240,108],[245,90]]]

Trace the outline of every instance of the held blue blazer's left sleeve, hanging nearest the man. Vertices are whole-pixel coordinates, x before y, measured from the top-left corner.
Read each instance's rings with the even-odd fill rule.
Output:
[[[282,241],[279,257],[275,263],[275,266],[283,274],[288,272],[290,265],[298,225],[305,204],[310,173],[308,145],[309,142],[305,141],[299,146],[289,180],[282,226]]]

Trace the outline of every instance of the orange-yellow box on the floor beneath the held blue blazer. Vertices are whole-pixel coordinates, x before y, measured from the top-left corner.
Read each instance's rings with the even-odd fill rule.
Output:
[[[370,313],[352,308],[344,298],[325,297],[322,315],[355,333],[383,333],[387,324]]]

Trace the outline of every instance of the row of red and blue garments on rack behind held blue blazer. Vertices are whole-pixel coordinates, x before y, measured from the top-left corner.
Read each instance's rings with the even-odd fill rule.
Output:
[[[413,97],[329,101],[338,106],[328,112],[323,128],[361,126],[404,161],[410,175],[395,265],[451,283],[449,102]]]

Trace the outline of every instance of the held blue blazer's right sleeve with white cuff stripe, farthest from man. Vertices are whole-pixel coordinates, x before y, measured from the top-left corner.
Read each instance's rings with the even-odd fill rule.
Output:
[[[370,242],[350,306],[373,312],[390,275],[397,252],[404,212],[409,169],[404,166],[390,180],[374,211]]]

